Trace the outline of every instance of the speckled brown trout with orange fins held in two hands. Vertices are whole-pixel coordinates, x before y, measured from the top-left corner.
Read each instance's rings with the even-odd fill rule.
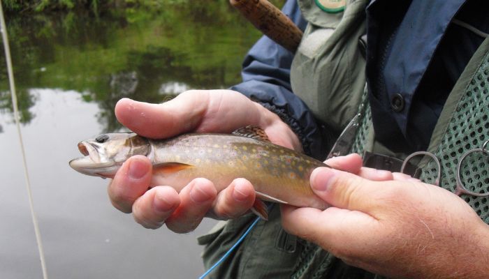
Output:
[[[113,178],[131,156],[143,155],[152,163],[151,186],[171,186],[180,193],[193,179],[214,183],[217,191],[233,179],[250,181],[256,191],[251,211],[267,220],[263,201],[326,209],[328,204],[312,191],[309,177],[325,163],[273,144],[265,131],[247,126],[231,134],[187,133],[154,140],[136,133],[106,133],[78,143],[84,157],[69,165],[90,176]]]

